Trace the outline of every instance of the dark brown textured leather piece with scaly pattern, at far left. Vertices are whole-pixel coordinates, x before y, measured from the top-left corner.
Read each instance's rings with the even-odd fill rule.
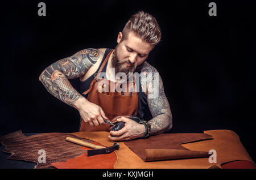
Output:
[[[81,145],[67,142],[65,138],[72,136],[73,138],[82,139],[92,143],[89,139],[79,138],[68,133],[43,133],[32,136],[23,135],[22,131],[16,131],[11,134],[0,137],[2,144],[6,146],[4,152],[11,153],[10,160],[24,160],[36,162],[36,169],[54,168],[51,162],[66,161],[69,158],[75,158],[86,151],[81,149]],[[40,154],[38,151],[43,149],[46,151],[46,163],[39,163]]]

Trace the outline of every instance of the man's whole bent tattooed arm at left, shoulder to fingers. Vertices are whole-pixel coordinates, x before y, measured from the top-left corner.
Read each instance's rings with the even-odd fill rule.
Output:
[[[90,67],[96,64],[101,57],[100,54],[98,49],[81,50],[71,57],[60,59],[48,66],[39,76],[40,82],[51,95],[79,110],[82,119],[91,126],[104,123],[100,115],[105,117],[105,114],[99,106],[90,103],[80,95],[68,79],[84,75]]]

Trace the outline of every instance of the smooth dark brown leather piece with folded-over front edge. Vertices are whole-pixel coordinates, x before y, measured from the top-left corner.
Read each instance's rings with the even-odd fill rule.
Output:
[[[125,142],[143,161],[170,160],[179,158],[209,157],[208,152],[190,151],[180,144],[212,139],[208,134],[159,134],[147,139]]]

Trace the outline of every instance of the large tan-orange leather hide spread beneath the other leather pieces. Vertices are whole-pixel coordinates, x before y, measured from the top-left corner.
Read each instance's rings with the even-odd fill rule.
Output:
[[[235,132],[230,130],[210,130],[204,131],[204,133],[211,135],[213,139],[181,144],[181,146],[190,149],[191,151],[209,152],[210,149],[215,149],[217,152],[217,163],[210,163],[207,157],[144,162],[123,142],[118,142],[120,148],[118,151],[115,151],[117,154],[117,162],[115,163],[114,168],[206,169],[221,168],[221,164],[234,160],[247,160],[254,164]],[[75,132],[73,134],[81,138],[94,140],[105,146],[113,145],[113,142],[108,138],[109,132]]]

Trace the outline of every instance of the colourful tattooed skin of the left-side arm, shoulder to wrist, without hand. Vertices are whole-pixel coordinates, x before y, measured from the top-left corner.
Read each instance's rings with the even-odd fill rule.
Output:
[[[49,93],[74,106],[73,103],[82,96],[72,87],[68,79],[75,79],[84,75],[99,57],[100,51],[97,49],[82,50],[47,67],[39,79]]]

